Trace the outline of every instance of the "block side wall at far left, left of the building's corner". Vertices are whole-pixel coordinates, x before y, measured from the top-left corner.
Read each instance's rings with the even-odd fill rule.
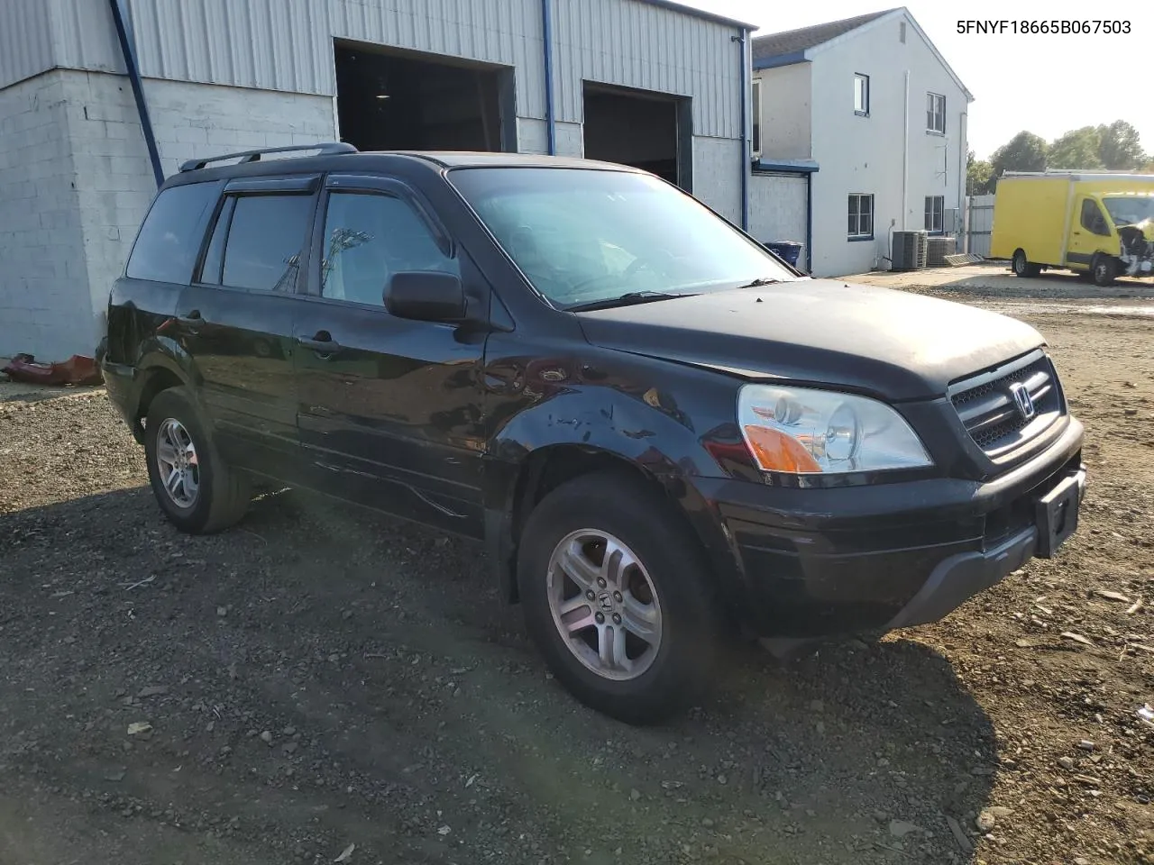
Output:
[[[91,352],[66,75],[0,90],[0,356]]]

